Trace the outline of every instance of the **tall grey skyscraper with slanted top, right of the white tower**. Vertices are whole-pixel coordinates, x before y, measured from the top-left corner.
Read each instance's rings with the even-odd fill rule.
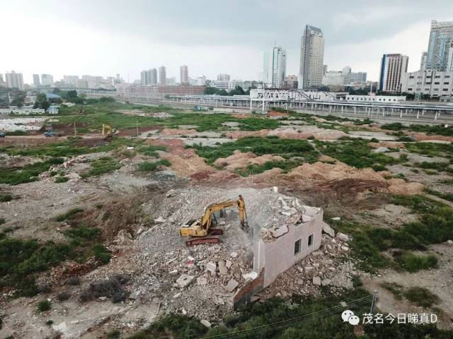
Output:
[[[321,85],[323,81],[324,38],[323,32],[306,25],[300,46],[299,88]]]

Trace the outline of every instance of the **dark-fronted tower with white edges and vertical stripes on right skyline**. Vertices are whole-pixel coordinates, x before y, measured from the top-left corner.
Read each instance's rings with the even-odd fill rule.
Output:
[[[409,57],[401,54],[384,54],[379,75],[379,90],[401,92],[401,75],[408,71]]]

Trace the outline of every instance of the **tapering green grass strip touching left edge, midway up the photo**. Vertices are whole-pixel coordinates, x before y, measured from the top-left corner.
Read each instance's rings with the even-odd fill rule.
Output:
[[[47,171],[50,166],[62,163],[62,158],[52,157],[49,160],[28,164],[21,168],[0,168],[0,184],[18,185],[35,182],[38,180],[38,175]]]

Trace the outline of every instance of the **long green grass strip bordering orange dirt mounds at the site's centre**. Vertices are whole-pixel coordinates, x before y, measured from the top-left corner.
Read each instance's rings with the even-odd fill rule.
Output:
[[[204,157],[210,165],[219,157],[229,157],[234,150],[243,153],[252,152],[255,155],[280,155],[289,159],[290,157],[303,157],[306,162],[315,162],[319,153],[306,140],[281,139],[277,137],[248,137],[241,138],[231,143],[222,143],[217,147],[193,145],[200,157]]]

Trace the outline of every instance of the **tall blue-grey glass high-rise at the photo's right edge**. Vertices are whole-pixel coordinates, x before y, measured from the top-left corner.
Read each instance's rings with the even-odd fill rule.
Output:
[[[431,21],[430,40],[426,57],[426,69],[447,70],[450,42],[453,40],[453,21]]]

